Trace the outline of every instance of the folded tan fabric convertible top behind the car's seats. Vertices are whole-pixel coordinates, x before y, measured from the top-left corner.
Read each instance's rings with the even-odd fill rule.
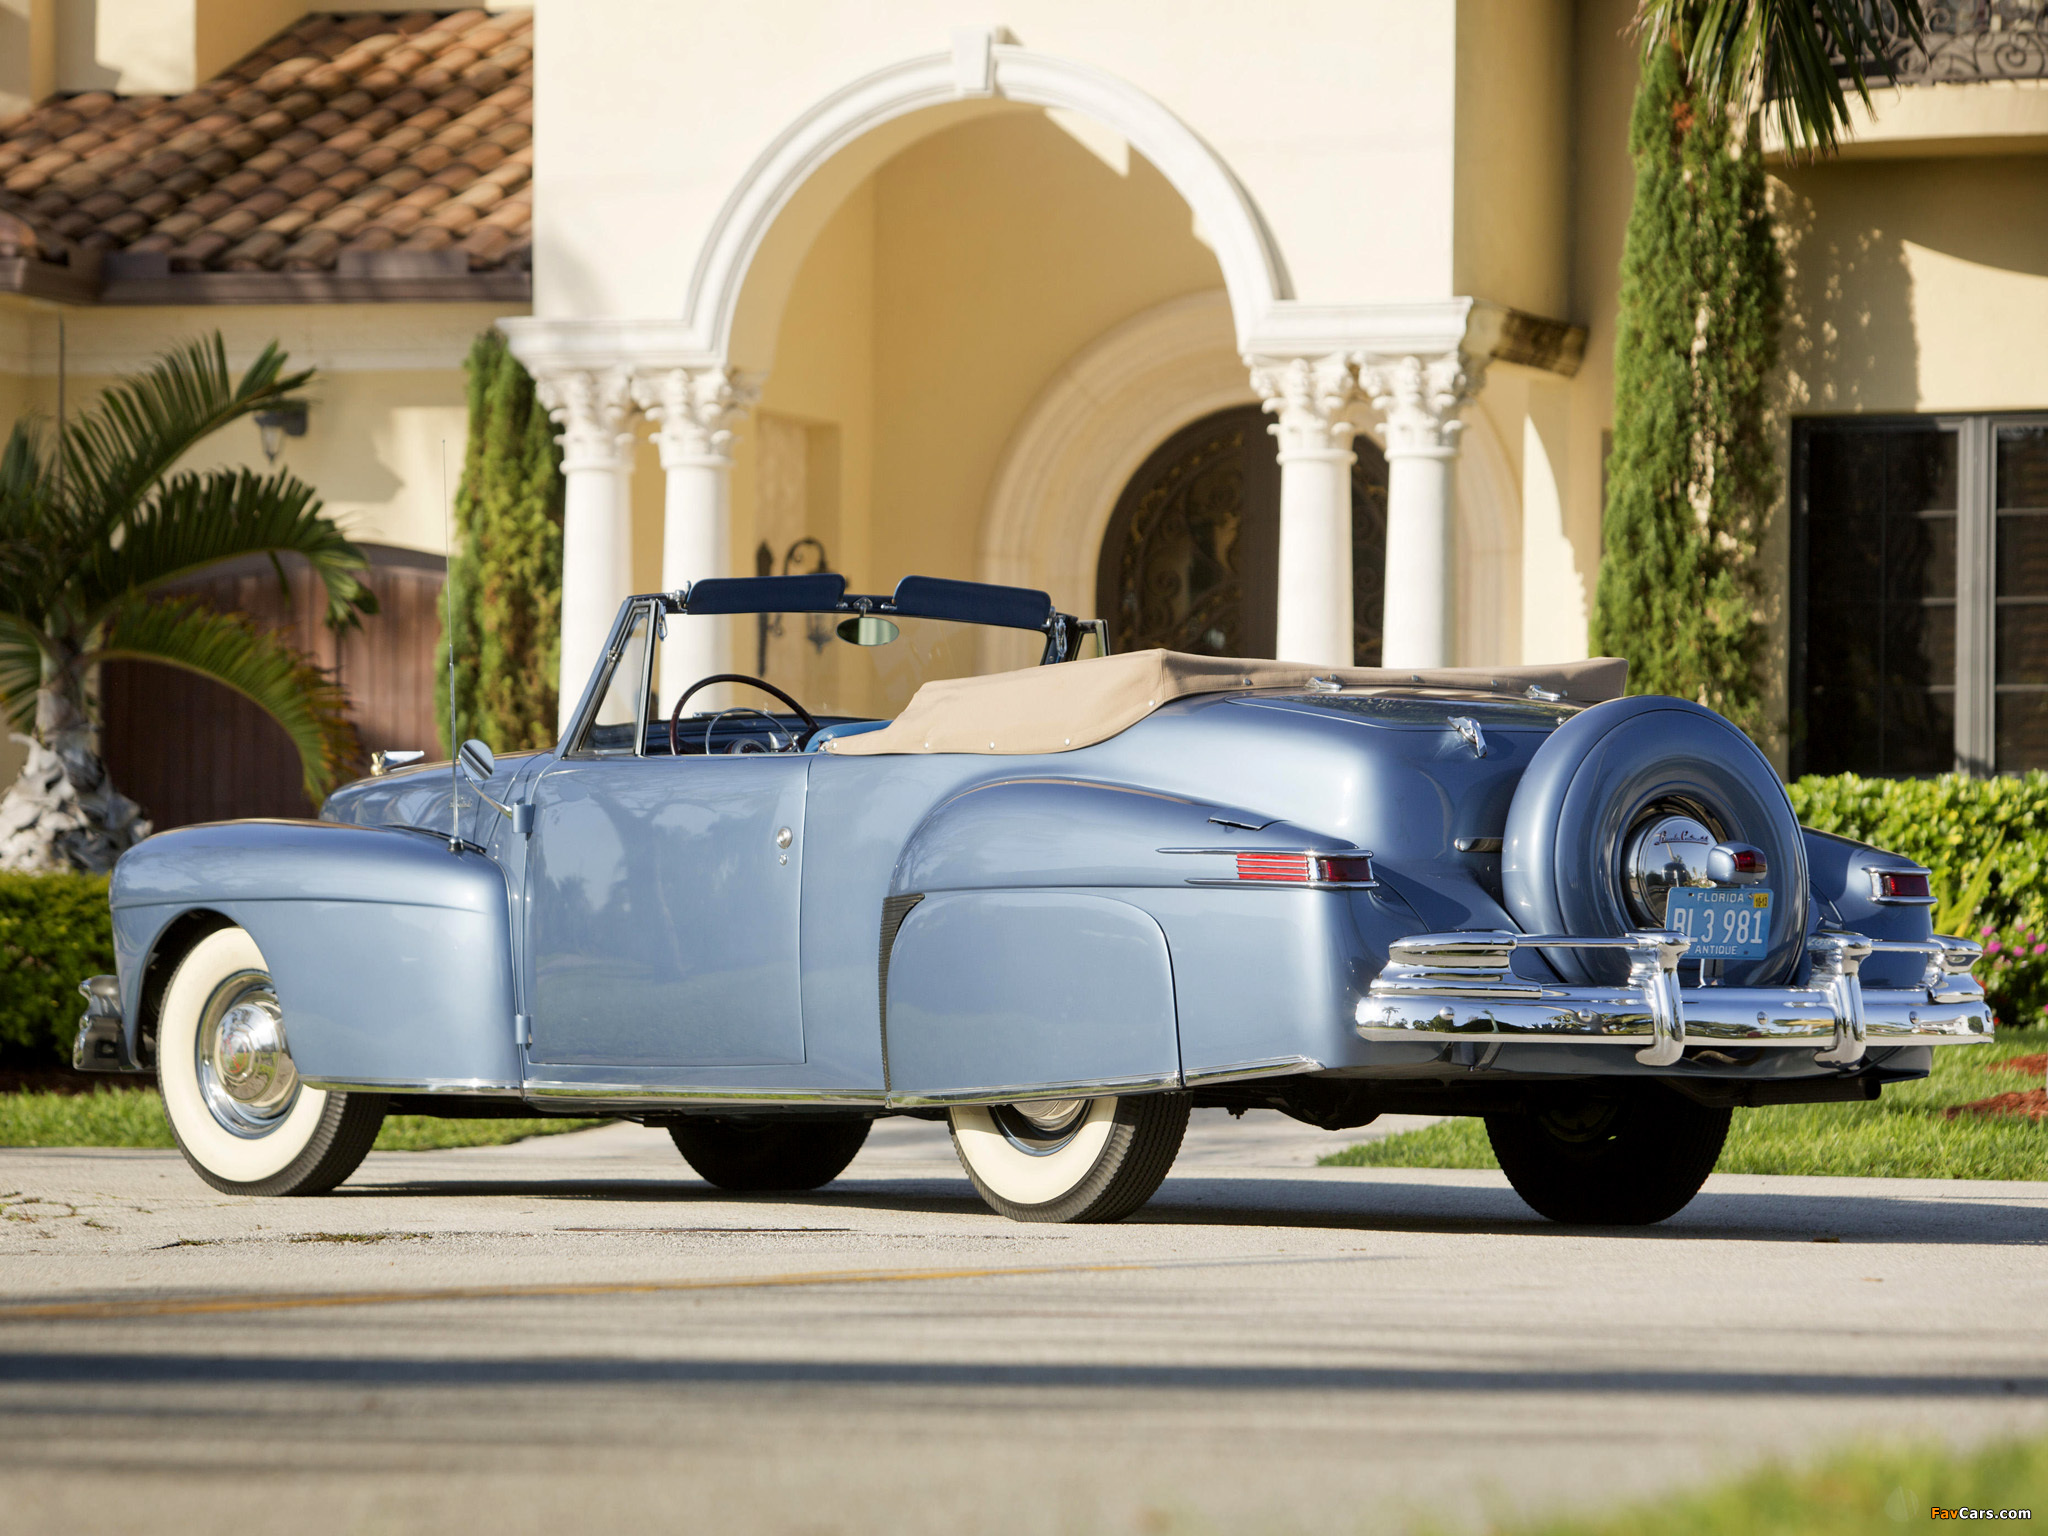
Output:
[[[1530,684],[1581,705],[1620,698],[1628,662],[1595,657],[1546,668],[1311,668],[1182,651],[1130,651],[1094,662],[1061,662],[987,678],[928,682],[879,731],[825,741],[825,752],[874,758],[899,752],[981,752],[1026,756],[1073,752],[1128,731],[1169,698],[1241,688],[1309,688],[1335,678],[1348,688],[1479,688],[1520,694]]]

